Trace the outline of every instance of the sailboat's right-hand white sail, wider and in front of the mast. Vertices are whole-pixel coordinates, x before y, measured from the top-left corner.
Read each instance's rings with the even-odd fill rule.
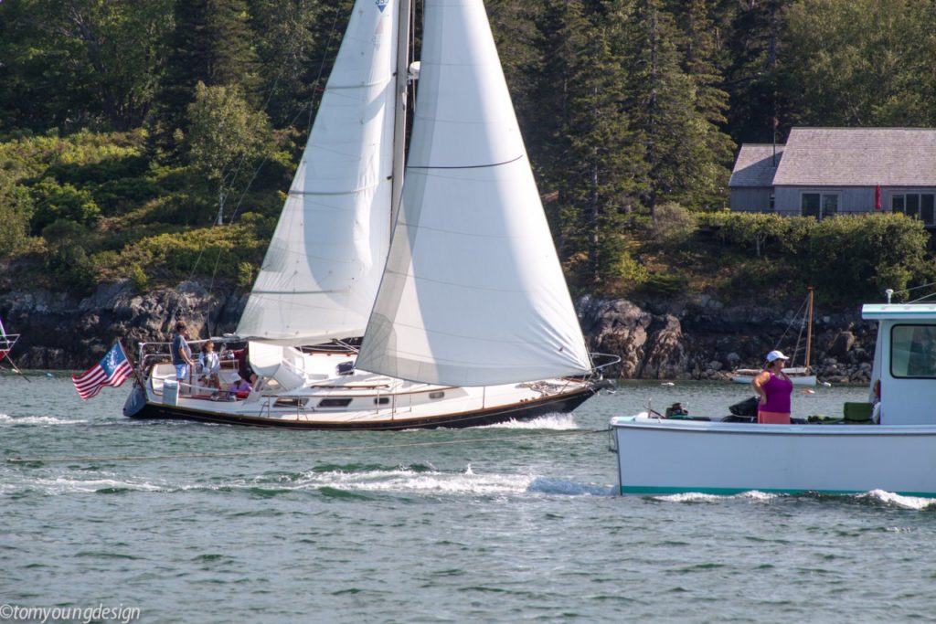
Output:
[[[402,210],[358,368],[441,385],[592,369],[481,0],[427,0]]]

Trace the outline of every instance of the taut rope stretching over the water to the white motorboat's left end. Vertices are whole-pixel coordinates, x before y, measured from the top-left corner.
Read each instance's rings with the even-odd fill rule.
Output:
[[[311,453],[331,453],[335,451],[379,451],[390,448],[414,448],[417,446],[449,446],[452,444],[467,443],[501,443],[514,440],[530,440],[533,438],[552,438],[558,436],[587,435],[591,433],[607,433],[609,428],[603,429],[574,429],[571,431],[554,431],[551,433],[530,433],[501,438],[473,438],[471,440],[448,440],[443,442],[417,442],[403,444],[365,444],[358,446],[326,446],[324,448],[299,448],[279,451],[243,451],[236,453],[175,453],[171,455],[124,455],[101,457],[8,457],[8,464],[51,463],[60,461],[147,461],[153,459],[189,459],[193,457],[260,457],[276,455],[302,455]]]

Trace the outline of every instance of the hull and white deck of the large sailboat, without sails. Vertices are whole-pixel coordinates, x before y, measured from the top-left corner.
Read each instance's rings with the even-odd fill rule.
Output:
[[[309,356],[307,361],[325,370],[347,359],[317,355]],[[145,396],[131,396],[124,414],[256,427],[466,427],[571,412],[594,392],[591,382],[578,379],[453,387],[408,382],[362,370],[318,377],[291,390],[277,387],[274,379],[267,378],[247,397],[224,400],[226,393],[217,396],[213,388],[199,385],[197,380],[192,385],[183,384],[181,392],[177,392],[172,384],[166,384],[174,379],[174,369],[157,364],[146,376]]]

